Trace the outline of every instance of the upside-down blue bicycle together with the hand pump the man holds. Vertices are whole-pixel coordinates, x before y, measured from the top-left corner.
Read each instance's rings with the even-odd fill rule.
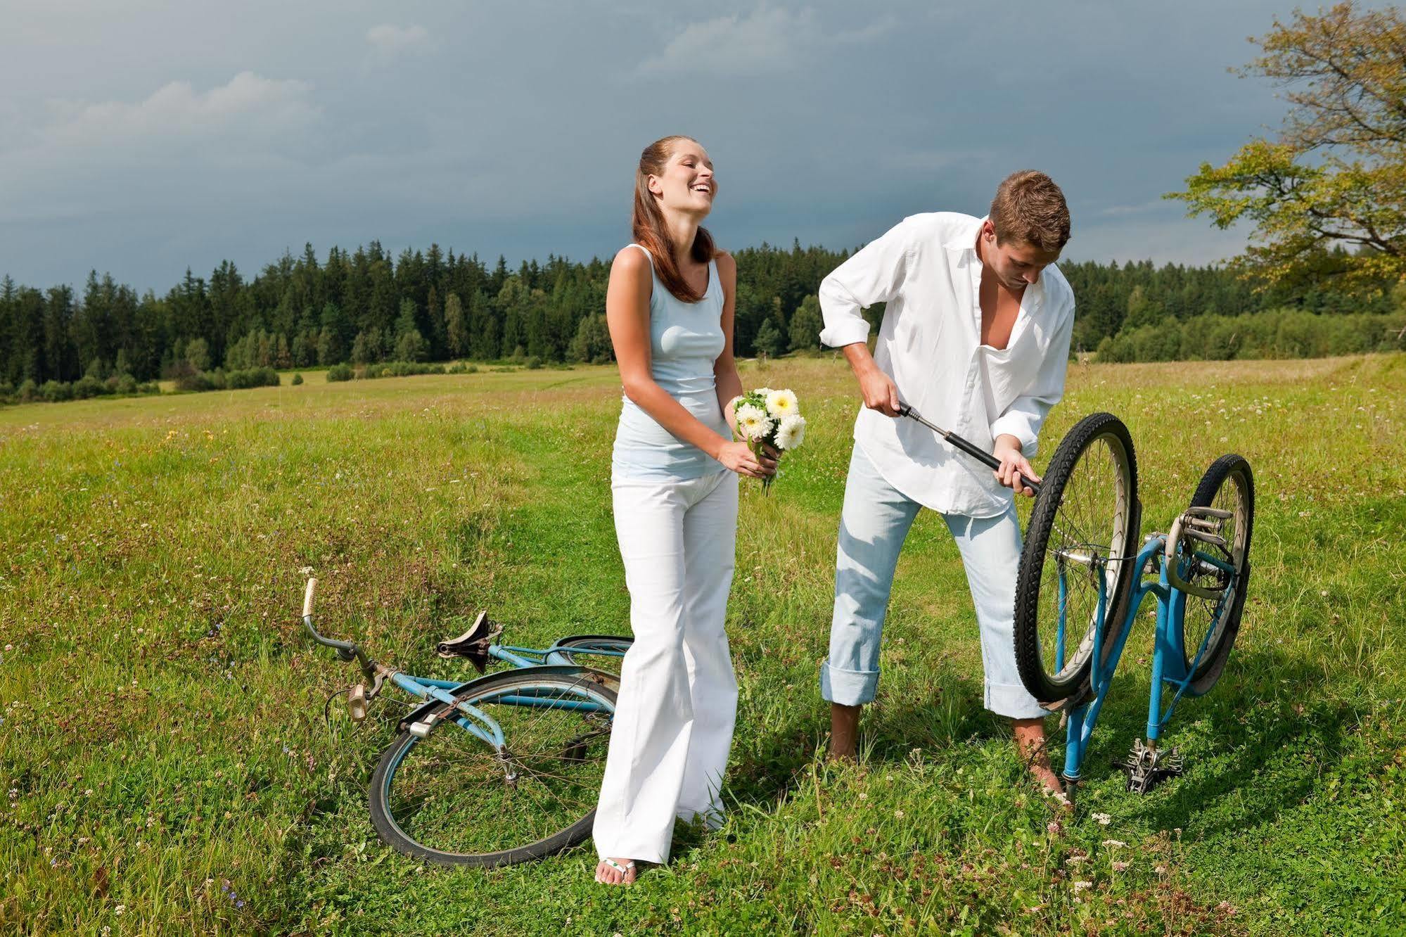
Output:
[[[934,426],[962,452],[994,456]],[[1029,483],[1028,483],[1029,484]],[[1159,739],[1182,695],[1206,694],[1225,671],[1250,581],[1254,476],[1241,456],[1216,459],[1173,521],[1137,547],[1142,505],[1132,436],[1112,414],[1085,416],[1060,440],[1025,532],[1015,591],[1015,661],[1025,688],[1064,713],[1063,778],[1083,779],[1098,713],[1108,698],[1137,611],[1157,598],[1147,739],[1118,763],[1128,789],[1146,793],[1181,772]],[[1163,705],[1164,687],[1171,692]]]

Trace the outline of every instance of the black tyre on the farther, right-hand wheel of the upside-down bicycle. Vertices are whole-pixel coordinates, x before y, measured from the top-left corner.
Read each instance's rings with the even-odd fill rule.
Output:
[[[1236,488],[1233,502],[1222,498],[1226,483]],[[1219,502],[1218,498],[1220,498]],[[1254,533],[1254,473],[1250,470],[1250,463],[1234,453],[1216,459],[1197,484],[1197,491],[1191,495],[1191,506],[1225,508],[1234,512],[1229,559],[1236,563],[1236,591],[1229,597],[1230,604],[1226,613],[1218,622],[1215,633],[1211,635],[1195,673],[1191,673],[1191,665],[1195,651],[1201,646],[1201,639],[1194,639],[1195,647],[1187,647],[1187,616],[1199,615],[1205,599],[1188,595],[1180,622],[1182,653],[1187,657],[1187,671],[1191,673],[1187,692],[1201,696],[1220,680],[1226,661],[1230,658],[1234,639],[1240,633],[1240,616],[1244,612],[1244,597],[1250,584],[1250,539]]]

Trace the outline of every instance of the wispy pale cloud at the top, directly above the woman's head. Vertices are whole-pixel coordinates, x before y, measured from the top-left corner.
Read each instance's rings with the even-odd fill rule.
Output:
[[[748,76],[783,72],[830,46],[869,42],[893,27],[891,17],[853,31],[827,34],[811,10],[759,7],[748,17],[693,23],[640,63],[643,75],[706,72]]]

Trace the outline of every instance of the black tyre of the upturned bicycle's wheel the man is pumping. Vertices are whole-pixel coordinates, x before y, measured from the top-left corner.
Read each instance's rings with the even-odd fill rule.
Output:
[[[1070,501],[1070,512],[1074,502],[1090,497],[1078,485],[1085,484],[1084,477],[1094,476],[1087,484],[1094,487],[1101,474],[1097,460],[1098,447],[1107,453],[1111,473],[1102,487],[1105,491],[1092,495],[1105,501],[1102,505],[1084,505],[1083,511],[1091,511],[1083,525],[1076,525],[1063,512],[1066,498]],[[1084,457],[1090,461],[1084,463]],[[1076,477],[1080,466],[1088,467],[1083,476]],[[1077,483],[1077,484],[1074,484]],[[1071,488],[1071,484],[1074,487]],[[1081,515],[1083,518],[1083,515]],[[1081,537],[1070,539],[1064,526],[1081,533]],[[1049,706],[1057,702],[1078,701],[1087,695],[1092,673],[1092,644],[1094,620],[1097,615],[1097,595],[1105,592],[1105,613],[1102,646],[1107,653],[1111,647],[1111,637],[1121,626],[1125,616],[1128,592],[1137,557],[1137,457],[1133,450],[1132,435],[1128,426],[1112,414],[1091,414],[1078,421],[1073,429],[1060,440],[1054,456],[1050,459],[1045,477],[1040,481],[1040,494],[1031,512],[1029,528],[1025,535],[1025,547],[1021,552],[1021,566],[1015,587],[1015,664],[1021,674],[1021,682],[1035,696],[1036,701]],[[1092,533],[1084,532],[1084,526],[1095,528]],[[1054,542],[1053,552],[1052,537]],[[1091,539],[1091,537],[1097,537]],[[1087,550],[1092,560],[1098,554],[1098,561],[1104,563],[1102,574],[1090,575],[1090,591],[1083,597],[1081,605],[1087,606],[1077,618],[1088,616],[1084,632],[1076,646],[1074,654],[1057,667],[1046,665],[1042,656],[1042,644],[1046,647],[1059,644],[1050,639],[1059,635],[1057,616],[1060,613],[1057,584],[1050,578],[1050,556],[1054,556],[1054,567],[1066,563],[1063,557],[1073,557],[1077,552],[1071,546]],[[1107,556],[1102,556],[1107,554]],[[1088,568],[1097,568],[1097,563],[1090,561]],[[1057,575],[1057,568],[1056,573]],[[1098,580],[1095,584],[1094,580]],[[1076,582],[1078,580],[1076,578]],[[1109,582],[1111,591],[1109,591]],[[1053,602],[1050,597],[1053,594]],[[1042,595],[1053,609],[1042,606]],[[1070,594],[1066,594],[1066,609]],[[1054,620],[1050,620],[1052,612]],[[1042,642],[1040,632],[1049,630],[1049,637]],[[1067,644],[1067,636],[1063,642]],[[1060,658],[1056,657],[1056,661]]]

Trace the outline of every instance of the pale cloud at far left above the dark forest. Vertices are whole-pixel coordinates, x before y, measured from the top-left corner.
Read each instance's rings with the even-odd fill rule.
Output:
[[[55,118],[35,136],[41,148],[76,149],[115,144],[163,144],[212,134],[277,132],[316,120],[312,86],[240,72],[228,84],[200,93],[170,82],[143,101],[51,101]]]

